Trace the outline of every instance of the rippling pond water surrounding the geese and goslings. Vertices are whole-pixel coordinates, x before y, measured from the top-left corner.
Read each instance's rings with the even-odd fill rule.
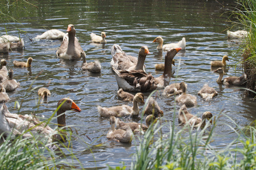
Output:
[[[210,70],[210,61],[221,60],[228,55],[228,67],[238,62],[233,58],[234,43],[226,36],[226,29],[230,27],[226,8],[233,6],[233,1],[35,1],[35,7],[22,5],[23,12],[15,6],[9,6],[9,15],[18,19],[16,23],[22,30],[26,49],[22,52],[0,54],[5,58],[8,68],[14,70],[14,78],[20,82],[18,90],[9,93],[11,100],[7,103],[10,112],[16,113],[14,102],[22,103],[21,114],[35,112],[37,116],[49,117],[56,108],[57,101],[63,97],[70,97],[82,109],[81,113],[67,113],[67,125],[77,125],[81,139],[73,139],[73,152],[85,168],[106,168],[107,164],[114,167],[130,165],[131,154],[135,152],[135,142],[131,145],[108,141],[106,134],[109,130],[109,120],[101,118],[97,112],[97,105],[112,107],[127,104],[117,99],[118,86],[115,76],[110,69],[111,46],[119,44],[123,51],[133,56],[138,56],[139,48],[147,45],[150,55],[146,58],[146,71],[154,76],[162,74],[154,69],[155,63],[163,63],[165,52],[158,53],[157,44],[152,41],[157,36],[162,36],[164,44],[177,42],[185,37],[187,47],[184,52],[179,52],[172,81],[184,81],[188,84],[189,94],[197,92],[208,83],[214,87],[218,96],[205,102],[198,97],[196,107],[189,108],[189,112],[199,114],[211,111],[214,115],[222,112],[232,117],[240,126],[250,125],[255,120],[255,101],[246,98],[243,90],[236,87],[219,86],[218,77]],[[5,28],[10,29],[10,35],[18,36],[18,32],[11,24],[1,20],[1,35],[5,35]],[[81,71],[82,61],[64,61],[55,57],[59,48],[59,40],[35,40],[36,35],[42,34],[47,29],[67,30],[68,24],[74,24],[76,36],[86,53],[88,62],[98,59],[102,65],[100,74]],[[90,33],[98,35],[106,32],[106,45],[91,44]],[[236,29],[234,29],[236,31]],[[30,41],[32,40],[32,42]],[[34,58],[31,69],[20,69],[13,66],[13,61],[26,61],[28,57]],[[180,66],[178,66],[180,62]],[[240,69],[230,67],[225,76],[242,74]],[[38,76],[38,78],[36,78]],[[37,90],[27,92],[28,88],[45,86],[51,90],[48,103],[38,107]],[[162,91],[156,100],[165,115],[163,121],[173,119],[175,102],[173,98],[165,99]],[[146,96],[149,94],[146,94]],[[131,105],[131,104],[129,104]],[[142,106],[141,106],[142,108]],[[179,106],[177,107],[179,109]],[[177,112],[176,112],[177,116]],[[56,120],[53,121],[56,123]],[[230,130],[235,125],[228,118],[222,116],[216,128],[216,140],[212,145],[216,148],[225,147],[236,138]],[[55,127],[55,126],[53,126]],[[168,126],[164,128],[168,132]],[[178,128],[179,130],[179,128]],[[86,135],[92,139],[89,141]],[[91,145],[87,145],[89,143]],[[103,146],[94,145],[104,143]],[[81,152],[82,151],[82,152]],[[68,158],[69,159],[69,158]],[[77,163],[77,166],[80,166]]]

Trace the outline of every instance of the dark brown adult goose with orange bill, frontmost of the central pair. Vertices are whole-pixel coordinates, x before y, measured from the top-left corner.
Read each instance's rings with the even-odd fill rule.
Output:
[[[181,48],[168,50],[164,59],[163,75],[158,78],[154,78],[150,73],[146,74],[143,70],[116,70],[112,67],[119,88],[133,92],[146,92],[164,88],[171,79],[172,59],[180,50]]]

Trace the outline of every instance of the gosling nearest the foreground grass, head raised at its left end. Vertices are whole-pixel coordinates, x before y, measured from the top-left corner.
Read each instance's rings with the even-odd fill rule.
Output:
[[[128,128],[127,130],[115,129],[115,117],[111,116],[109,119],[111,128],[107,134],[107,138],[112,141],[130,143],[133,140],[133,131]]]

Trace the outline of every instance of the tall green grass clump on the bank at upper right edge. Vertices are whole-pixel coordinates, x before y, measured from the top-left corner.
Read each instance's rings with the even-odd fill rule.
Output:
[[[233,22],[239,27],[245,28],[249,35],[238,49],[238,56],[242,53],[240,59],[245,74],[247,76],[248,96],[255,97],[256,91],[256,1],[240,0],[232,16],[235,16],[236,21]]]

